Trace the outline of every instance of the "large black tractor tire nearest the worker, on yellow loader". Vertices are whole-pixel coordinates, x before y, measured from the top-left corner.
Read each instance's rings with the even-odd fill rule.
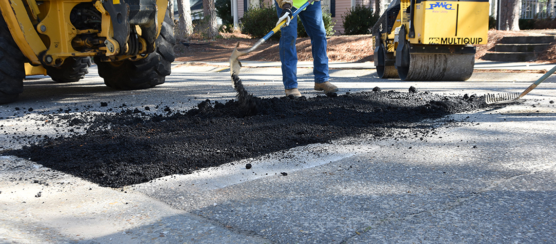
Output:
[[[171,72],[174,61],[173,21],[166,11],[160,35],[156,39],[155,51],[138,61],[101,62],[95,57],[98,74],[106,86],[116,89],[145,89],[162,84]]]

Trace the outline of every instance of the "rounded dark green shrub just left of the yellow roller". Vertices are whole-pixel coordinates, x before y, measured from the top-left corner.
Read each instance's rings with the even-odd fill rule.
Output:
[[[378,14],[373,13],[373,9],[370,7],[357,5],[342,16],[344,34],[370,34],[379,17]]]

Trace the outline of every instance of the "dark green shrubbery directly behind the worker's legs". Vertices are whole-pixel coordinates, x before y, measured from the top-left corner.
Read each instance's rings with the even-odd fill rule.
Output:
[[[250,34],[252,37],[261,38],[276,27],[278,16],[276,14],[276,7],[274,5],[268,7],[261,7],[256,9],[249,9],[241,18],[242,32]],[[333,36],[335,31],[332,29],[335,21],[332,20],[330,13],[327,11],[322,12],[322,21],[324,21],[324,28],[326,36]],[[307,32],[301,23],[301,19],[297,17],[297,37],[307,37]],[[280,39],[280,31],[275,33],[271,39]]]

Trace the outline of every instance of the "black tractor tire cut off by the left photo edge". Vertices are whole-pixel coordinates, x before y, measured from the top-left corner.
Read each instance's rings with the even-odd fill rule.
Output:
[[[16,101],[23,92],[25,60],[0,13],[0,104]]]

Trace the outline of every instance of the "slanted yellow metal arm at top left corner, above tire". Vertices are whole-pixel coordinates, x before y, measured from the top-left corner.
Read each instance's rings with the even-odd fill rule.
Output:
[[[27,10],[21,0],[0,1],[2,16],[8,24],[9,32],[12,33],[14,41],[33,64],[41,64],[37,54],[46,50],[44,43],[31,23]]]

